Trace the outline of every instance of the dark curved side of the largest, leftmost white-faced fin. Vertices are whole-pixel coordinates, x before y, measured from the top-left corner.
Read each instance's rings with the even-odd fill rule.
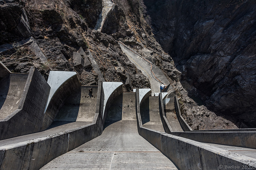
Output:
[[[54,121],[56,115],[60,111],[61,107],[64,105],[65,101],[69,96],[80,87],[80,82],[77,75],[72,76],[66,80],[53,94],[46,112],[44,114],[44,119],[42,123],[41,130],[46,130]]]

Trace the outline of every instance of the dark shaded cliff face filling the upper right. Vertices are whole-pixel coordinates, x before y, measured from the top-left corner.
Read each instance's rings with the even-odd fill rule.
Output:
[[[215,113],[232,117],[238,127],[255,127],[256,2],[144,4],[144,18],[191,86],[188,92],[198,94]]]

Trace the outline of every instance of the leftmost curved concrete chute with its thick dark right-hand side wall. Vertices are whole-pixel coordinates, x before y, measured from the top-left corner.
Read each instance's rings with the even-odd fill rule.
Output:
[[[40,131],[50,86],[34,67],[18,74],[0,65],[0,72],[7,73],[0,76],[0,139]]]

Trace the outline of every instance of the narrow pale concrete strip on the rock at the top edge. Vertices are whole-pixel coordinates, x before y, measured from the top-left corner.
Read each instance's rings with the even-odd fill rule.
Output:
[[[96,25],[94,27],[95,30],[101,31],[102,27],[104,25],[104,22],[106,20],[106,17],[110,10],[112,9],[112,6],[114,3],[112,0],[102,0],[102,12],[100,13],[100,16],[98,17],[98,20],[96,22]]]

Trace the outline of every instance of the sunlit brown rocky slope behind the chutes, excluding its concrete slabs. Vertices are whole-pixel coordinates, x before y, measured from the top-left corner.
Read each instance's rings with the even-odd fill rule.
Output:
[[[126,84],[125,91],[150,87],[146,77],[122,53],[117,43],[122,41],[141,55],[144,54],[145,49],[154,52],[152,56],[146,58],[165,72],[176,94],[181,98],[182,111],[192,129],[236,128],[232,122],[217,116],[204,106],[198,106],[188,98],[186,90],[179,81],[181,72],[176,69],[172,57],[162,50],[151,32],[150,25],[146,22],[149,17],[144,16],[146,6],[142,0],[114,0],[115,6],[106,19],[103,33],[92,30],[101,12],[102,0],[1,0],[0,2],[4,7],[12,3],[26,10],[31,35],[48,61],[46,63],[40,61],[28,45],[15,45],[24,39],[17,31],[13,31],[15,27],[5,29],[1,33],[12,36],[1,41],[0,45],[11,43],[15,48],[1,54],[0,60],[13,72],[28,72],[30,66],[36,66],[47,79],[50,70],[76,71],[81,84],[96,85],[98,77],[93,68],[74,67],[73,53],[82,47],[84,51],[90,50],[106,81],[123,82]],[[12,17],[12,20],[17,20],[20,14]],[[8,20],[2,23],[11,24]]]

